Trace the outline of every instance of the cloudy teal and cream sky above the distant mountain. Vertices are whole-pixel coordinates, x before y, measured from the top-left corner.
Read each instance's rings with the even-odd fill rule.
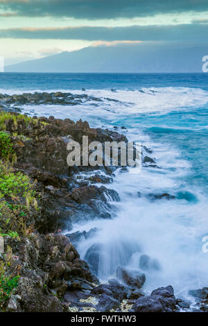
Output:
[[[0,0],[6,65],[87,46],[203,47],[207,35],[208,0]]]

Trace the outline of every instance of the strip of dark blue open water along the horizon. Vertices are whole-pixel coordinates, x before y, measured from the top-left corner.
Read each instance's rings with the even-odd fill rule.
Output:
[[[193,87],[208,90],[208,74],[0,74],[0,89],[137,89]]]

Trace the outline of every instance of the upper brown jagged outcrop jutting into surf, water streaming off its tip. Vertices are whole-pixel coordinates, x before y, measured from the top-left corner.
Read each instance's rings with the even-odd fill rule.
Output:
[[[17,114],[14,115],[18,117]],[[13,132],[18,134],[12,136],[17,154],[15,169],[24,171],[33,180],[37,180],[40,217],[36,218],[35,228],[39,232],[55,232],[65,228],[66,222],[70,230],[72,223],[83,221],[84,218],[111,217],[108,213],[112,209],[109,201],[119,200],[118,194],[114,190],[91,185],[91,182],[112,181],[106,173],[112,175],[116,166],[101,166],[102,175],[96,173],[93,177],[92,174],[86,174],[84,184],[80,182],[77,173],[85,170],[85,166],[67,166],[67,142],[71,137],[82,141],[83,135],[87,135],[89,141],[126,141],[123,135],[110,130],[89,128],[86,121],[74,123],[70,119],[54,117],[26,121],[18,118],[17,123],[8,119],[6,131],[12,135]],[[89,166],[89,171],[94,169],[98,167]]]

